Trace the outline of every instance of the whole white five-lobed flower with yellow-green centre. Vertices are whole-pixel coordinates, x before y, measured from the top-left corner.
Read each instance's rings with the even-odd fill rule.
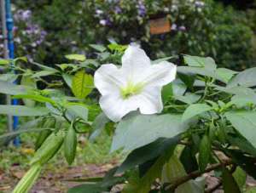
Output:
[[[137,109],[142,114],[160,113],[161,88],[175,79],[176,71],[176,65],[167,61],[151,65],[143,49],[129,46],[122,57],[122,67],[106,64],[95,73],[102,111],[113,122]]]

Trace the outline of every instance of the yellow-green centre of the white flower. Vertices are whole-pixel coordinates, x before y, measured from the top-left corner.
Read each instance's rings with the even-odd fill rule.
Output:
[[[123,99],[128,99],[129,97],[140,94],[143,90],[143,83],[134,84],[132,82],[128,82],[124,88],[120,88],[120,93]]]

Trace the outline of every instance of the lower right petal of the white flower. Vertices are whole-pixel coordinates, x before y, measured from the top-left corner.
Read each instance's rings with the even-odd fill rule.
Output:
[[[142,114],[160,113],[163,110],[160,87],[146,87],[139,98],[139,109]]]

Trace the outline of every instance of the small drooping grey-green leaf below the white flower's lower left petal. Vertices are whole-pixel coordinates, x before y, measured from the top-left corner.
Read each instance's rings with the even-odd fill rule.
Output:
[[[92,142],[96,139],[96,137],[102,133],[102,130],[105,128],[106,124],[110,122],[108,116],[106,116],[103,112],[96,116],[94,122],[92,122],[91,128],[93,132],[90,134],[89,140]]]

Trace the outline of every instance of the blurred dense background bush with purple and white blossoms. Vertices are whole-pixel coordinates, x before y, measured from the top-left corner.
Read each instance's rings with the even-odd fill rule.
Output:
[[[60,61],[61,54],[90,54],[90,43],[138,42],[151,57],[170,54],[212,56],[233,69],[253,64],[253,31],[247,16],[206,1],[15,1],[31,8],[33,20],[48,32],[36,60]],[[150,35],[148,20],[166,16],[172,31]],[[253,23],[253,20],[252,20]],[[39,48],[40,50],[40,48]],[[160,50],[160,51],[159,51]]]

